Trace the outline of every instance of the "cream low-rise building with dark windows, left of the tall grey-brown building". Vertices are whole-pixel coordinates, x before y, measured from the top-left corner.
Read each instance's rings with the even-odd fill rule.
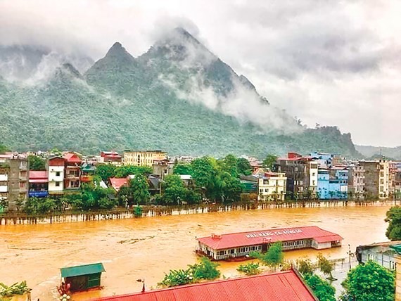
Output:
[[[286,174],[284,172],[265,172],[258,174],[258,200],[284,200],[286,197]]]

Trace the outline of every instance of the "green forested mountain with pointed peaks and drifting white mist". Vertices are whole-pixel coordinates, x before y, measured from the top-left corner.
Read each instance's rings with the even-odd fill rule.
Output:
[[[336,127],[302,127],[182,29],[138,58],[115,43],[86,72],[62,60],[37,84],[9,80],[7,72],[0,76],[0,142],[17,151],[357,155],[350,134]]]

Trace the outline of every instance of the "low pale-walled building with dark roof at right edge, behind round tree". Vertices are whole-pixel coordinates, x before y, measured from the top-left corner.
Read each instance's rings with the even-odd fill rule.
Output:
[[[367,263],[372,260],[386,269],[395,269],[395,255],[397,252],[394,247],[400,246],[401,241],[388,241],[385,243],[371,243],[370,245],[358,245],[356,256],[359,264]]]

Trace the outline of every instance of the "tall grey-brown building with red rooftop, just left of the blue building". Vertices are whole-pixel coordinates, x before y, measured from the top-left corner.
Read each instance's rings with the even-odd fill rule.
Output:
[[[287,158],[277,158],[273,170],[286,174],[286,193],[291,194],[291,197],[300,196],[307,190],[317,188],[317,164],[311,164],[311,161],[312,158],[305,158],[298,153],[288,153]],[[310,191],[314,192],[316,191]]]

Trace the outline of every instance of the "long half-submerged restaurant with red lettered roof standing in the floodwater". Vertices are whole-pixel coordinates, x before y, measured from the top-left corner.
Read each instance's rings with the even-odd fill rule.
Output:
[[[320,229],[318,226],[212,234],[196,239],[198,241],[196,251],[214,260],[244,257],[251,251],[266,252],[270,244],[276,241],[281,241],[283,250],[303,248],[321,250],[340,247],[343,240],[338,234]]]

